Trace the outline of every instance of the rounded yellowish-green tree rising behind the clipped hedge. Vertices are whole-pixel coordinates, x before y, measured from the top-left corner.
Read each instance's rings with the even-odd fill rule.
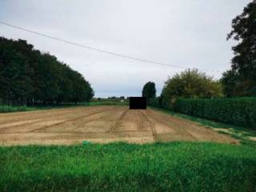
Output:
[[[222,85],[198,70],[185,70],[166,82],[162,97],[166,107],[176,98],[218,98],[222,97]]]

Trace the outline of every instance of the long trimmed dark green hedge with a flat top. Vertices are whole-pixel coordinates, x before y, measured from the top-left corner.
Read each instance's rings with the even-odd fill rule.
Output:
[[[256,98],[178,99],[174,111],[256,130]]]

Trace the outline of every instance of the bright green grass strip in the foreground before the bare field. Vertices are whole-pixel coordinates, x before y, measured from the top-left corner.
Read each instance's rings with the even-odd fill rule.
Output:
[[[0,147],[0,191],[255,191],[256,149],[217,143]]]

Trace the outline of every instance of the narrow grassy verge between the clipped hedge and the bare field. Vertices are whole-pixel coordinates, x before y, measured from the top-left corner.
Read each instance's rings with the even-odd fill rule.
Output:
[[[166,114],[177,116],[179,118],[185,118],[192,122],[197,122],[202,126],[213,128],[222,134],[230,134],[232,137],[240,139],[242,143],[256,146],[256,140],[255,141],[250,140],[251,137],[256,138],[255,130],[251,130],[249,128],[242,127],[242,126],[234,126],[227,123],[215,122],[212,120],[207,120],[205,118],[197,118],[187,114],[179,114],[174,111],[165,110],[158,107],[150,106],[150,108],[154,110],[162,111],[163,113],[166,113]]]

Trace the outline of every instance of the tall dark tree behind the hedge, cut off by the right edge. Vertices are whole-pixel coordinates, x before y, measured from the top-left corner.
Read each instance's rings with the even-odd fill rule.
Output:
[[[231,70],[223,74],[225,94],[256,96],[256,1],[250,2],[232,21],[233,30],[227,39],[234,38],[234,58]]]

